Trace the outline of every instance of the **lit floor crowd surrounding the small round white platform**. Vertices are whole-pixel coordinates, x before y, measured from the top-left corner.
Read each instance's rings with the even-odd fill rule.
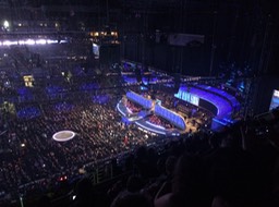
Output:
[[[137,146],[154,142],[135,125],[121,122],[117,97],[107,104],[92,99],[43,105],[41,115],[26,112],[8,121],[1,136],[1,192],[9,193],[37,180],[73,178],[87,163],[112,158]],[[29,108],[29,106],[28,106]],[[23,111],[21,107],[21,111]],[[52,139],[56,132],[71,130],[69,142]]]

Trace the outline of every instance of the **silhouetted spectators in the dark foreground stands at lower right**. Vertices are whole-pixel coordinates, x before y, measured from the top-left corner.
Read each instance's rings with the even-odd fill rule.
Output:
[[[125,158],[125,176],[92,185],[84,178],[65,206],[264,207],[278,206],[278,150],[252,134],[243,147],[239,124],[220,134],[196,133],[163,147],[142,146]],[[130,166],[130,168],[128,168]],[[50,203],[52,206],[57,203]]]

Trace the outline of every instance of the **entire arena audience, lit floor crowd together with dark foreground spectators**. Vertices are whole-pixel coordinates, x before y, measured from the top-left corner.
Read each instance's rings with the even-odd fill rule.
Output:
[[[125,94],[123,88],[102,90],[107,82],[87,78],[85,72],[72,74],[70,82],[64,76],[53,78],[53,86],[60,83],[66,90],[47,90],[45,86],[53,87],[46,81],[32,90],[34,100],[43,97],[39,101],[11,100],[9,110],[1,109],[1,199],[19,195],[25,198],[36,191],[44,196],[29,206],[278,206],[277,148],[263,135],[258,138],[248,134],[247,125],[227,129],[222,134],[199,131],[180,137],[155,136],[123,122],[116,109]],[[82,74],[85,80],[80,80]],[[4,80],[1,95],[17,96],[16,85],[4,86]],[[210,126],[211,114],[175,99],[173,94],[157,93],[157,88],[135,92],[183,113],[187,124]],[[133,113],[141,111],[132,101],[126,106]],[[173,127],[155,114],[149,122]],[[73,131],[75,137],[54,141],[52,135],[63,130]],[[252,141],[253,147],[243,147],[243,136]],[[93,186],[93,171],[99,163],[106,166],[107,160],[118,179]],[[49,188],[53,192],[59,187],[61,179],[72,184],[66,191],[71,199],[46,196]]]

